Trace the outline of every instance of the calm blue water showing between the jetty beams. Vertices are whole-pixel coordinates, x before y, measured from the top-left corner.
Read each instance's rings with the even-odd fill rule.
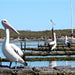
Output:
[[[64,42],[64,41],[58,41],[58,42]],[[3,42],[0,42],[0,57],[2,58],[5,58],[5,56],[3,55],[2,53],[2,43]],[[16,44],[18,45],[18,47],[20,47],[20,41],[17,41],[17,42],[11,42],[13,44]],[[27,47],[32,47],[32,48],[37,48],[38,46],[38,41],[27,41],[26,42],[26,45],[36,45],[36,46],[27,46]],[[44,41],[41,41],[39,42],[39,44],[44,44]],[[34,57],[34,56],[27,56],[27,57]],[[37,56],[35,56],[37,57]],[[52,57],[52,56],[38,56],[38,57]],[[55,56],[56,57],[56,56]],[[57,57],[60,57],[60,56],[57,56]],[[62,57],[66,57],[66,56],[62,56]],[[49,61],[27,61],[28,63],[28,66],[30,67],[34,67],[34,66],[49,66],[51,64],[51,62]],[[2,62],[3,65],[9,65],[9,62]],[[57,66],[66,66],[66,65],[69,65],[69,66],[72,66],[72,67],[75,67],[75,61],[56,61],[56,64]],[[18,63],[18,65],[22,65],[20,63]],[[12,63],[12,66],[15,66],[15,62]]]

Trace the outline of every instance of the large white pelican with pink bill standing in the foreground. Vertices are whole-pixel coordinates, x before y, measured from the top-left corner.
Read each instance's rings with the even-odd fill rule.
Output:
[[[15,62],[16,64],[15,68],[17,68],[17,62],[27,65],[26,61],[24,61],[22,58],[23,57],[22,50],[18,48],[16,45],[9,43],[9,37],[10,37],[9,30],[12,30],[17,34],[19,34],[19,32],[16,31],[15,28],[13,28],[6,19],[3,19],[1,23],[5,28],[5,33],[6,33],[6,37],[2,45],[2,51],[5,57],[10,61],[9,67],[11,67],[12,62]]]

